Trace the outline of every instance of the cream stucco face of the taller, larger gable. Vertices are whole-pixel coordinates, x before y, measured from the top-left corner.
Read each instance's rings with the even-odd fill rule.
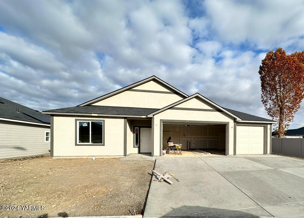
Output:
[[[154,93],[154,92],[134,92],[125,91],[109,97],[107,99],[96,102],[92,105],[100,106],[119,106],[119,107],[140,107],[140,108],[163,108],[174,102],[183,99],[181,96],[176,95],[172,90],[164,88],[162,85],[157,84],[154,81],[147,82],[139,85],[135,90],[146,90],[156,92],[171,92],[168,93]]]

